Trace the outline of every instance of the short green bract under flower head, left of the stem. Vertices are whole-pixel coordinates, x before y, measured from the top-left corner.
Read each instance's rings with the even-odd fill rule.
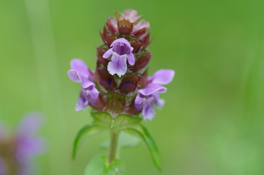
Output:
[[[94,123],[106,128],[111,128],[111,115],[107,112],[92,112]]]

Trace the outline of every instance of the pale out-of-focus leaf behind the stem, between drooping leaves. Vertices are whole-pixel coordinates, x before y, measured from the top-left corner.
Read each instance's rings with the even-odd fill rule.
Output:
[[[125,132],[120,132],[118,136],[118,141],[117,141],[117,147],[118,148],[133,148],[138,146],[140,143],[140,139],[138,137],[135,137],[131,134],[125,133]],[[101,148],[108,148],[110,144],[109,140],[106,140],[101,144]]]

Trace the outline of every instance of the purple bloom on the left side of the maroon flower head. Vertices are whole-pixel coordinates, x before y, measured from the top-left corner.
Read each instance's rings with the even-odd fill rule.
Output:
[[[96,100],[99,96],[99,91],[92,82],[94,79],[91,76],[88,66],[81,59],[72,59],[70,62],[71,69],[67,72],[69,78],[74,82],[81,82],[81,92],[79,100],[75,105],[75,111],[84,110],[89,101]]]

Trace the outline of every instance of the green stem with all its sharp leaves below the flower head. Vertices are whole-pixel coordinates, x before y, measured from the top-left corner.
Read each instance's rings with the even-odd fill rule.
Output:
[[[120,131],[140,138],[147,146],[156,168],[161,171],[161,159],[158,148],[146,128],[140,123],[142,119],[136,119],[126,114],[120,114],[116,117],[115,120],[112,120],[111,115],[106,112],[96,112],[91,114],[94,122],[90,125],[84,126],[77,134],[74,141],[72,157],[73,159],[75,158],[77,150],[86,138],[90,137],[91,135],[100,133],[106,129],[109,129],[111,132],[111,140],[109,145],[110,152],[108,161],[105,156],[95,157],[87,165],[85,175],[122,175],[124,173],[123,163],[120,160],[115,159],[116,147],[118,147],[117,140]],[[99,172],[98,169],[98,173],[95,173],[94,171],[96,171],[99,164],[101,164],[101,167],[98,168],[101,169],[101,171]],[[115,171],[113,170],[113,168],[115,169]]]

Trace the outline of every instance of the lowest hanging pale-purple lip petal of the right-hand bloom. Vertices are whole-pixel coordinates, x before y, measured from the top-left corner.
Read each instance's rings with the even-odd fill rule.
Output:
[[[142,116],[144,120],[152,120],[156,115],[155,109],[152,106],[152,101],[153,97],[150,97],[148,99],[143,98]]]

